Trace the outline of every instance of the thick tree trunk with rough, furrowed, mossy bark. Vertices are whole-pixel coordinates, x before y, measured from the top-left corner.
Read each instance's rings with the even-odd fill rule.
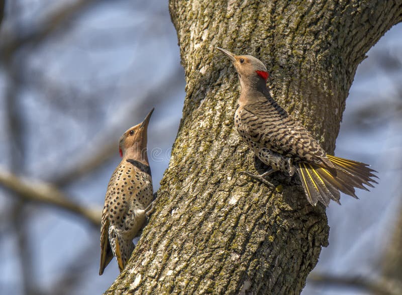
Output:
[[[255,160],[233,127],[239,82],[215,48],[260,58],[275,99],[332,153],[357,65],[402,1],[170,0],[186,97],[160,199],[106,293],[298,294],[328,244],[325,208]],[[353,147],[350,147],[351,149]],[[332,205],[334,206],[334,205]],[[336,205],[335,205],[336,206]]]

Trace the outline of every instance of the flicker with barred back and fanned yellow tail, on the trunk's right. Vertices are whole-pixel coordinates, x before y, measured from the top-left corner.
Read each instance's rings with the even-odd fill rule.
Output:
[[[377,183],[372,179],[376,171],[367,164],[326,154],[311,133],[272,99],[266,85],[268,72],[260,60],[218,49],[230,58],[240,79],[236,129],[255,155],[271,167],[261,175],[247,175],[272,185],[265,178],[272,172],[292,176],[296,171],[313,206],[318,202],[328,206],[330,200],[340,204],[340,191],[357,199],[355,187],[368,190],[364,185]]]

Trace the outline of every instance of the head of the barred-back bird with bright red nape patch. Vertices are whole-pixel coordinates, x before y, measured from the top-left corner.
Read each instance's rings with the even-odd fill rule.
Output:
[[[257,87],[266,85],[269,74],[265,65],[258,58],[251,55],[235,55],[226,49],[217,48],[232,61],[239,75],[242,88],[247,85]]]

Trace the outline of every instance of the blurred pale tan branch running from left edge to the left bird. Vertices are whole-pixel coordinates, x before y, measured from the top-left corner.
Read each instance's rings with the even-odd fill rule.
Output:
[[[67,198],[63,192],[53,185],[18,177],[1,168],[0,184],[16,192],[18,196],[26,201],[57,207],[86,219],[96,227],[100,226],[100,210],[84,208],[82,205]]]

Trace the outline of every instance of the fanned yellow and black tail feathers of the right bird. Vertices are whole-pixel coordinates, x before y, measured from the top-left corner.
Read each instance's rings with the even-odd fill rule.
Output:
[[[315,206],[318,202],[328,206],[331,200],[340,204],[340,191],[357,199],[355,187],[367,189],[364,185],[374,187],[377,177],[367,164],[327,155],[334,164],[336,173],[317,164],[299,162],[297,172],[302,181],[307,199]],[[378,178],[378,177],[377,177]]]

